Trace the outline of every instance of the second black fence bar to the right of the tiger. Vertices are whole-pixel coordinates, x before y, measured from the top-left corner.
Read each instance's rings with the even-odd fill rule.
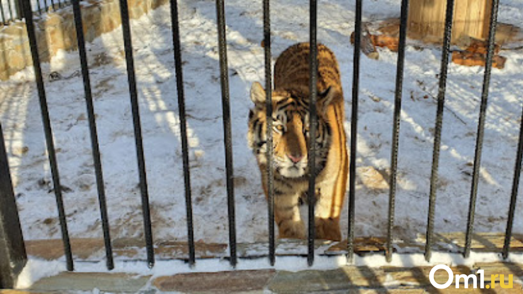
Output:
[[[405,65],[405,45],[407,37],[407,16],[408,0],[401,2],[400,17],[400,44],[397,52],[396,68],[396,91],[394,95],[394,119],[392,130],[392,150],[391,150],[391,179],[389,193],[389,226],[387,232],[387,250],[386,260],[392,261],[392,229],[394,227],[394,207],[396,199],[396,175],[397,175],[397,152],[400,139],[400,121],[401,121],[401,99],[403,93],[403,69]]]

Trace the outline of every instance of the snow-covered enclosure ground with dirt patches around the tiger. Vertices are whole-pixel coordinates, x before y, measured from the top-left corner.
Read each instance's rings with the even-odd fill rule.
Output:
[[[365,20],[399,16],[400,0],[367,0]],[[263,10],[261,2],[226,2],[235,203],[238,242],[267,240],[266,201],[254,156],[247,148],[248,91],[264,80]],[[308,5],[271,2],[273,61],[287,46],[309,38]],[[318,39],[337,55],[350,130],[354,30],[353,3],[324,0],[319,4]],[[523,3],[502,0],[499,20],[517,24]],[[153,234],[157,239],[186,240],[185,199],[179,117],[169,7],[132,21],[135,68]],[[180,1],[185,92],[196,240],[228,241],[221,91],[214,2]],[[88,58],[112,237],[143,235],[132,115],[121,30],[88,44]],[[476,231],[502,232],[506,226],[523,97],[523,50],[503,51],[505,69],[493,69],[485,125]],[[403,112],[396,198],[397,238],[425,232],[433,151],[438,48],[406,51]],[[73,237],[101,238],[96,183],[78,54],[61,53],[44,64],[65,210]],[[475,134],[483,68],[451,64],[441,145],[436,231],[464,231],[470,197]],[[361,181],[373,167],[390,167],[396,54],[380,50],[380,60],[362,56],[359,99],[357,236],[384,236],[388,189],[371,189]],[[0,83],[0,121],[4,128],[11,173],[26,239],[59,238],[51,173],[43,139],[32,69]],[[349,134],[350,135],[350,134]],[[523,233],[521,197],[515,231]],[[347,228],[347,209],[342,216]]]

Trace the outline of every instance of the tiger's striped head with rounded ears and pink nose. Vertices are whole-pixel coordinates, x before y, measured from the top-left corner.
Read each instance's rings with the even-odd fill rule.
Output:
[[[285,178],[301,178],[308,173],[309,97],[297,93],[275,90],[272,92],[272,167]],[[331,126],[327,120],[327,107],[336,97],[329,87],[317,96],[316,173],[325,166],[330,145]],[[249,112],[248,144],[258,160],[267,164],[266,93],[255,82],[251,88],[254,108]]]

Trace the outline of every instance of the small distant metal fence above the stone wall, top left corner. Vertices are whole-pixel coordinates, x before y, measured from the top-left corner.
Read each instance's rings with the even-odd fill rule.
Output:
[[[32,3],[32,11],[38,15],[71,5],[68,0],[33,0]],[[21,7],[21,0],[0,0],[0,25],[6,26],[13,21],[22,20],[24,15]]]

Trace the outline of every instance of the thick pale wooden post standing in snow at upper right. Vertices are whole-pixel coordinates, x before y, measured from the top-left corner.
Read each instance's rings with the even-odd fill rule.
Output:
[[[471,37],[486,40],[492,0],[455,0],[452,41]],[[447,0],[411,1],[408,30],[417,36],[442,40],[445,29]]]

